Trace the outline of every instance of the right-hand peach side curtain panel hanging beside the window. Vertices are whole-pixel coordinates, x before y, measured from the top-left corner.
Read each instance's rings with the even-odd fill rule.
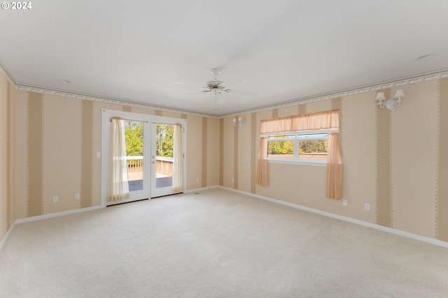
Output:
[[[326,196],[329,199],[342,199],[342,154],[339,133],[328,135]]]

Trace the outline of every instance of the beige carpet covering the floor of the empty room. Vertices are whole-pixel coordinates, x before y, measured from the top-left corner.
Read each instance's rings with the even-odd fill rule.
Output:
[[[214,188],[17,225],[0,297],[448,297],[448,250]]]

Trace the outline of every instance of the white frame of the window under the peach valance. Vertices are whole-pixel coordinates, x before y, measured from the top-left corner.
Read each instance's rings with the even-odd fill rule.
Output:
[[[288,163],[288,164],[295,164],[295,165],[315,165],[320,167],[326,167],[327,166],[327,160],[318,160],[318,159],[301,159],[299,150],[299,142],[300,140],[328,140],[328,135],[330,133],[337,133],[339,132],[338,128],[333,129],[325,129],[325,130],[318,130],[318,131],[296,131],[296,132],[288,132],[288,133],[269,133],[266,135],[261,135],[261,137],[266,138],[266,152],[267,152],[267,146],[269,144],[269,141],[288,141],[291,140],[291,138],[275,138],[276,135],[288,135],[293,136],[293,143],[294,143],[294,151],[293,151],[293,158],[279,158],[279,157],[269,157],[266,154],[266,160],[268,163]],[[305,138],[304,135],[322,135],[326,134],[327,137],[313,137],[313,138]]]

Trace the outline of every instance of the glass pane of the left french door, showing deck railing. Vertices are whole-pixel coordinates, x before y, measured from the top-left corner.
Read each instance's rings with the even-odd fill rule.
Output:
[[[125,121],[129,191],[143,190],[143,122]]]

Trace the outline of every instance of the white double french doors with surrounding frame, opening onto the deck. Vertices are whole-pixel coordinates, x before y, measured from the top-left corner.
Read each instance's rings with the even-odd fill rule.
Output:
[[[129,186],[129,198],[119,202],[107,202],[111,171],[110,119],[112,117],[123,119],[126,138],[127,174],[125,179],[127,181],[124,183]],[[179,188],[179,184],[183,185],[185,180],[183,178],[185,146],[182,146],[185,144],[185,128],[186,120],[183,119],[103,109],[102,205],[120,204],[182,192],[183,188]],[[179,150],[181,150],[180,153]],[[179,179],[181,179],[180,183]]]

